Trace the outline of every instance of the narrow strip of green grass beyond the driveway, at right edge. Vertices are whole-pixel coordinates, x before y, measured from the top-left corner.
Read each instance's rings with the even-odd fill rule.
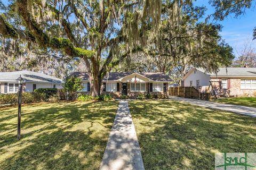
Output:
[[[256,97],[219,98],[213,101],[233,105],[256,107]]]

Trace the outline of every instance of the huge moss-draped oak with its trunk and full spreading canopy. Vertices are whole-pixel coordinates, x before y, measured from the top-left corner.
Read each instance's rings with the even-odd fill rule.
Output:
[[[215,71],[233,59],[221,26],[199,22],[205,9],[190,0],[13,0],[0,7],[5,58],[29,56],[29,66],[49,56],[60,72],[80,61],[92,96],[100,95],[113,68],[169,72],[193,65]]]

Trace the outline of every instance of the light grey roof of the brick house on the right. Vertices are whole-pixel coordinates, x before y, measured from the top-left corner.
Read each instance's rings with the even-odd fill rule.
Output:
[[[220,67],[217,73],[206,72],[204,69],[197,68],[196,70],[201,71],[210,76],[232,76],[232,77],[256,77],[256,68],[246,67]]]

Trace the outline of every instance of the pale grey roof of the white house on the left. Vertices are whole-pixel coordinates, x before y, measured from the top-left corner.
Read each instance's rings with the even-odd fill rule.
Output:
[[[49,83],[62,83],[61,79],[52,77],[44,73],[38,73],[33,71],[15,71],[15,72],[0,72],[0,81],[15,81],[18,77],[25,79],[25,81],[31,82],[49,82]]]

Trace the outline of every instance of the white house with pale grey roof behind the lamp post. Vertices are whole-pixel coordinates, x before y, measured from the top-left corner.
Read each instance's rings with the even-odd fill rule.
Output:
[[[38,88],[62,88],[62,80],[32,71],[0,72],[0,93],[9,94],[18,91],[19,84],[17,78],[25,80],[23,83],[23,92],[33,92]]]

